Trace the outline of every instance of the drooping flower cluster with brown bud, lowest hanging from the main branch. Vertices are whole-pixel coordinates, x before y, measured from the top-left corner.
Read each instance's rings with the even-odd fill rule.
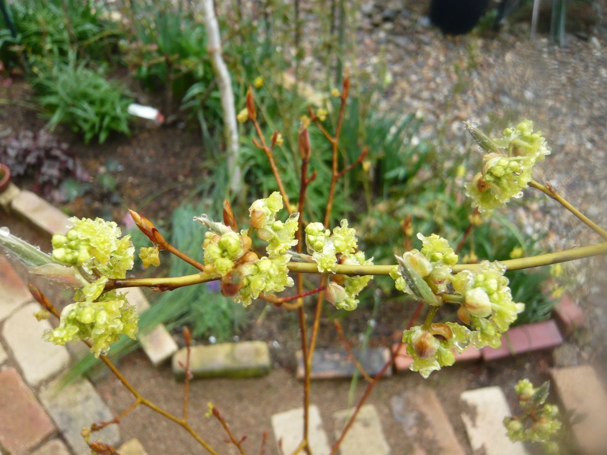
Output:
[[[430,373],[455,363],[453,351],[462,352],[469,340],[469,330],[454,322],[432,324],[430,328],[413,326],[402,334],[407,343],[407,354],[413,358],[411,371],[419,371],[424,378]]]

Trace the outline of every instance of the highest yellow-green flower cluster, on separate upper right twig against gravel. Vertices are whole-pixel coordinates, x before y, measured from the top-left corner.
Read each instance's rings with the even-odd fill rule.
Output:
[[[487,152],[481,172],[466,184],[466,194],[472,206],[490,211],[512,197],[520,197],[521,190],[531,181],[533,167],[550,153],[541,131],[534,132],[533,122],[523,120],[514,128],[504,130],[501,138],[490,140],[470,122],[467,128]],[[480,139],[479,139],[480,138]]]

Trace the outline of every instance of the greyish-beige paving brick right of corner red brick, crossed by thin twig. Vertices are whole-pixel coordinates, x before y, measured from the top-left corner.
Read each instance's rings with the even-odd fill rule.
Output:
[[[62,387],[59,378],[44,388],[39,397],[70,448],[78,454],[89,453],[80,434],[83,426],[114,418],[88,380],[79,380]],[[117,445],[120,441],[118,425],[108,425],[103,430],[96,431],[95,440],[97,439]]]

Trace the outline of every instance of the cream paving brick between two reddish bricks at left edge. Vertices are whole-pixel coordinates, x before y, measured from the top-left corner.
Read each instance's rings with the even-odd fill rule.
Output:
[[[42,334],[52,327],[49,321],[38,321],[34,317],[39,309],[37,303],[25,305],[6,320],[2,330],[25,380],[33,386],[62,371],[70,360],[64,346],[42,339]]]

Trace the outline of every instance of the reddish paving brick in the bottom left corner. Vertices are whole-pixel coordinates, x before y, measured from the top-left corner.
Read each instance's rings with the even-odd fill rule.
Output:
[[[0,445],[15,455],[30,453],[55,426],[15,368],[0,371]]]

